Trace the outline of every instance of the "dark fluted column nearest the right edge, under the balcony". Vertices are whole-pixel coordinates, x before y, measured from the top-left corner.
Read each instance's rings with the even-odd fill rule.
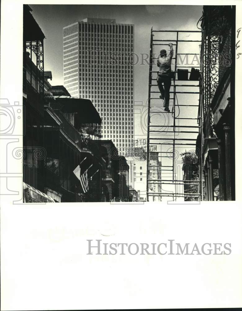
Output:
[[[223,123],[225,146],[226,200],[231,201],[230,127]]]

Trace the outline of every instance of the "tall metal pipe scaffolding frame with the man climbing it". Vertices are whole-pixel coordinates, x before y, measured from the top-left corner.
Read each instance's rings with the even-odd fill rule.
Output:
[[[162,39],[162,40],[154,40],[153,36],[154,33],[173,33],[173,35],[176,34],[176,40],[169,40],[169,39]],[[149,88],[148,88],[148,114],[147,114],[147,183],[146,183],[146,196],[147,196],[147,201],[149,201],[149,197],[154,197],[154,196],[158,196],[158,197],[172,197],[173,201],[176,200],[178,197],[193,197],[193,198],[197,198],[198,200],[202,200],[203,199],[203,187],[202,187],[202,182],[201,182],[201,174],[200,174],[200,170],[198,172],[198,180],[181,180],[181,179],[177,179],[177,174],[176,174],[176,146],[196,146],[196,139],[193,138],[181,138],[181,135],[183,133],[187,134],[187,133],[193,133],[193,134],[199,134],[199,132],[201,132],[201,127],[202,127],[202,116],[200,114],[200,112],[197,110],[196,114],[194,114],[194,116],[190,117],[190,118],[179,118],[176,117],[176,108],[179,108],[180,111],[180,107],[184,107],[184,106],[189,106],[189,107],[198,107],[199,109],[199,104],[201,101],[201,96],[199,95],[199,104],[179,104],[178,105],[178,100],[177,99],[177,94],[200,94],[199,92],[199,88],[200,88],[200,81],[192,81],[192,80],[188,80],[190,82],[196,82],[196,83],[192,83],[192,84],[183,84],[182,82],[180,82],[180,84],[176,84],[176,81],[181,81],[177,79],[177,69],[178,68],[188,68],[191,69],[193,68],[199,68],[200,72],[201,72],[201,64],[200,66],[177,66],[177,55],[200,55],[200,53],[177,53],[178,52],[178,43],[179,42],[198,42],[201,43],[201,40],[180,40],[179,39],[179,34],[180,33],[201,33],[200,30],[195,30],[195,31],[186,31],[186,30],[153,30],[151,28],[151,33],[150,33],[150,58],[149,58]],[[154,43],[155,42],[155,43]],[[162,43],[158,43],[158,42],[162,42]],[[155,93],[160,94],[159,91],[155,90],[152,87],[158,87],[157,84],[152,84],[152,81],[156,80],[156,77],[154,78],[152,75],[154,73],[157,74],[158,70],[154,70],[153,66],[156,66],[156,61],[154,61],[154,46],[156,45],[168,45],[168,43],[163,43],[163,42],[174,42],[175,44],[175,50],[174,50],[174,57],[173,59],[175,60],[175,69],[174,69],[174,79],[172,79],[173,84],[171,85],[171,91],[170,94],[173,94],[173,97],[170,98],[170,100],[173,100],[173,108],[172,108],[172,112],[170,112],[170,114],[166,111],[158,111],[159,109],[157,109],[157,104],[156,104],[156,110],[154,110],[154,108],[152,107],[152,100],[160,100],[161,103],[162,99],[160,99],[159,97],[155,97]],[[200,45],[199,45],[200,46]],[[200,52],[200,51],[199,51]],[[190,73],[191,71],[188,71],[188,73]],[[186,80],[187,81],[187,80]],[[177,87],[197,87],[198,91],[194,91],[194,92],[190,92],[190,91],[177,91]],[[154,94],[154,95],[153,95]],[[154,96],[154,97],[152,97]],[[190,95],[185,95],[185,96],[190,96]],[[152,110],[153,108],[153,110]],[[150,124],[151,123],[151,116],[152,114],[167,114],[168,116],[174,116],[173,117],[173,125],[167,125],[165,126],[165,128],[167,130],[159,130],[159,128],[161,127],[161,125],[153,125]],[[196,116],[196,117],[195,117]],[[193,126],[193,125],[177,125],[176,121],[177,120],[197,120],[197,125]],[[155,128],[158,128],[158,130],[156,130]],[[170,130],[169,130],[170,129]],[[192,129],[192,131],[190,131],[190,129]],[[154,134],[157,133],[157,137],[150,137],[150,134]],[[173,133],[173,137],[172,138],[167,138],[162,136],[162,133]],[[177,138],[177,134],[181,134],[179,136],[179,138]],[[159,134],[161,135],[161,137],[159,137]],[[150,145],[161,145],[160,146],[160,151],[156,151],[155,154],[157,154],[157,156],[153,155],[154,153],[152,153],[150,151]],[[162,151],[162,146],[163,145],[171,145],[172,146],[172,151]],[[196,148],[196,147],[195,147]],[[185,150],[184,150],[185,151]],[[152,153],[150,155],[150,153]],[[160,155],[161,154],[161,155]],[[165,155],[163,155],[165,154]],[[158,170],[160,168],[161,171],[161,179],[153,179],[150,178],[150,157],[154,158],[157,157],[158,160],[160,159],[160,161],[158,161],[158,166],[152,166],[152,167],[157,167]],[[167,158],[167,159],[172,159],[172,165],[162,165],[162,158]],[[201,160],[201,156],[199,155],[199,161]],[[200,165],[199,165],[200,166]],[[164,169],[165,168],[165,169]],[[167,169],[169,168],[169,169]],[[172,179],[167,179],[167,177],[165,179],[162,178],[162,172],[163,171],[172,171]],[[167,185],[173,185],[174,186],[174,190],[173,192],[168,191],[159,191],[159,192],[151,192],[150,191],[150,184],[158,184],[158,185],[162,185],[162,184],[167,184]],[[197,193],[185,193],[185,189],[183,190],[183,193],[181,193],[178,189],[177,189],[177,185],[197,185]],[[184,187],[185,188],[185,187]],[[178,190],[178,191],[177,191]],[[189,191],[189,187],[187,189]]]

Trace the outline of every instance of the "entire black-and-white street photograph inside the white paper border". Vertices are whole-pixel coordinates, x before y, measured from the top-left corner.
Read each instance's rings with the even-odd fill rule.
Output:
[[[235,200],[235,32],[229,5],[24,5],[24,202]]]

